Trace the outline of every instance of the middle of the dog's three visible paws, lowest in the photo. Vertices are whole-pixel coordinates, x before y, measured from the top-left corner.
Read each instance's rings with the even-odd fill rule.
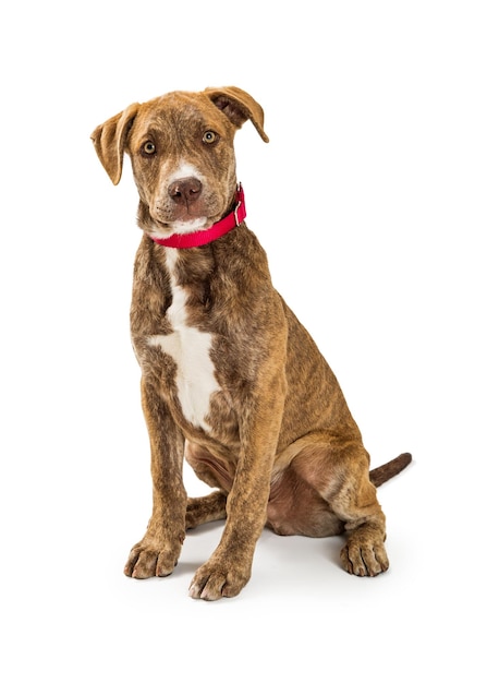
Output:
[[[251,578],[251,573],[238,567],[207,562],[194,575],[190,586],[190,596],[202,600],[219,600],[234,598]]]

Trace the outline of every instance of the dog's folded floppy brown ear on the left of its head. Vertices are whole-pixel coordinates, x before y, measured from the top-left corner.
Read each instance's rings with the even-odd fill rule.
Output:
[[[122,177],[125,143],[139,106],[138,104],[131,105],[124,111],[98,125],[92,133],[98,158],[114,185],[119,184]]]

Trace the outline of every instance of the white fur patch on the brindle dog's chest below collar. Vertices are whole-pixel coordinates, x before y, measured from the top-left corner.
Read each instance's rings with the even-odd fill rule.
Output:
[[[150,346],[159,347],[174,360],[178,368],[178,397],[186,420],[195,427],[209,429],[206,418],[211,395],[220,391],[209,356],[211,335],[186,325],[186,295],[184,289],[175,284],[173,275],[176,252],[172,249],[168,252],[172,303],[167,316],[174,332],[168,335],[153,335],[147,342]]]

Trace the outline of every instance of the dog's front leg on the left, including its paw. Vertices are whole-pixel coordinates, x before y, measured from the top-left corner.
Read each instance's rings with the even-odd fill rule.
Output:
[[[126,576],[167,576],[178,563],[184,541],[186,492],[182,467],[184,438],[165,402],[142,381],[142,406],[150,441],[153,515],[141,542],[130,553]]]

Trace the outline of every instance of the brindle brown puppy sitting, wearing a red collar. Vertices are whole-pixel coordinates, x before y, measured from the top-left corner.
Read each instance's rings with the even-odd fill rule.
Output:
[[[235,86],[173,92],[98,125],[92,140],[114,184],[126,153],[143,230],[131,335],[151,453],[153,514],[124,572],[167,576],[187,529],[226,519],[192,598],[240,594],[267,526],[279,535],[345,535],[341,563],[357,576],[389,566],[377,487],[411,462],[369,471],[339,383],[272,286],[245,224],[235,132],[264,111]],[[184,457],[208,495],[188,498]]]

